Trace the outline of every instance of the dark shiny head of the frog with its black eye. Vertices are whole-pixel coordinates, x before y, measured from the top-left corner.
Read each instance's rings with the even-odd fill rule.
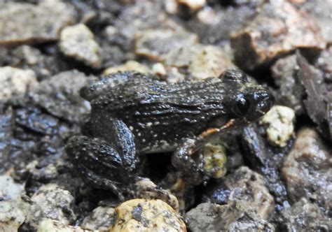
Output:
[[[249,82],[242,71],[227,70],[219,78],[227,87],[227,121],[232,122],[233,126],[255,122],[275,103],[275,96],[269,89]],[[225,125],[225,122],[219,126],[222,124]]]

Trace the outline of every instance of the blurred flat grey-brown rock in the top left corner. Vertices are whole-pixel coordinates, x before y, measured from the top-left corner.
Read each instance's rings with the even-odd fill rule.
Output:
[[[0,9],[0,45],[55,41],[60,30],[74,22],[74,8],[59,0],[35,6],[8,2]]]

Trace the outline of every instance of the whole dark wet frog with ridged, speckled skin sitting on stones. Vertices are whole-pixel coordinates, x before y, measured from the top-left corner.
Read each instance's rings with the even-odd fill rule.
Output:
[[[256,121],[274,103],[268,89],[235,70],[172,84],[119,72],[83,87],[81,96],[92,110],[67,153],[86,182],[119,196],[138,180],[138,157],[146,153],[174,152],[172,164],[183,179],[199,184],[207,173],[204,159],[193,154],[212,137]]]

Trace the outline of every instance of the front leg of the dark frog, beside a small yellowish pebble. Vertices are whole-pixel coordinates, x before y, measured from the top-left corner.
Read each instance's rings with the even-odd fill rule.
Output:
[[[201,154],[198,163],[193,159],[193,154],[197,152],[198,140],[186,139],[172,156],[172,164],[181,172],[183,179],[190,184],[200,184],[205,180],[204,159]]]

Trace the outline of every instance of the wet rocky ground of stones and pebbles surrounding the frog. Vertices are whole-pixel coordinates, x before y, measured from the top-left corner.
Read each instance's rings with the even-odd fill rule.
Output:
[[[331,12],[331,0],[0,0],[0,231],[331,231]],[[226,68],[276,106],[203,147],[204,184],[179,180],[170,154],[145,157],[177,208],[81,180],[64,152],[90,112],[81,87]]]

